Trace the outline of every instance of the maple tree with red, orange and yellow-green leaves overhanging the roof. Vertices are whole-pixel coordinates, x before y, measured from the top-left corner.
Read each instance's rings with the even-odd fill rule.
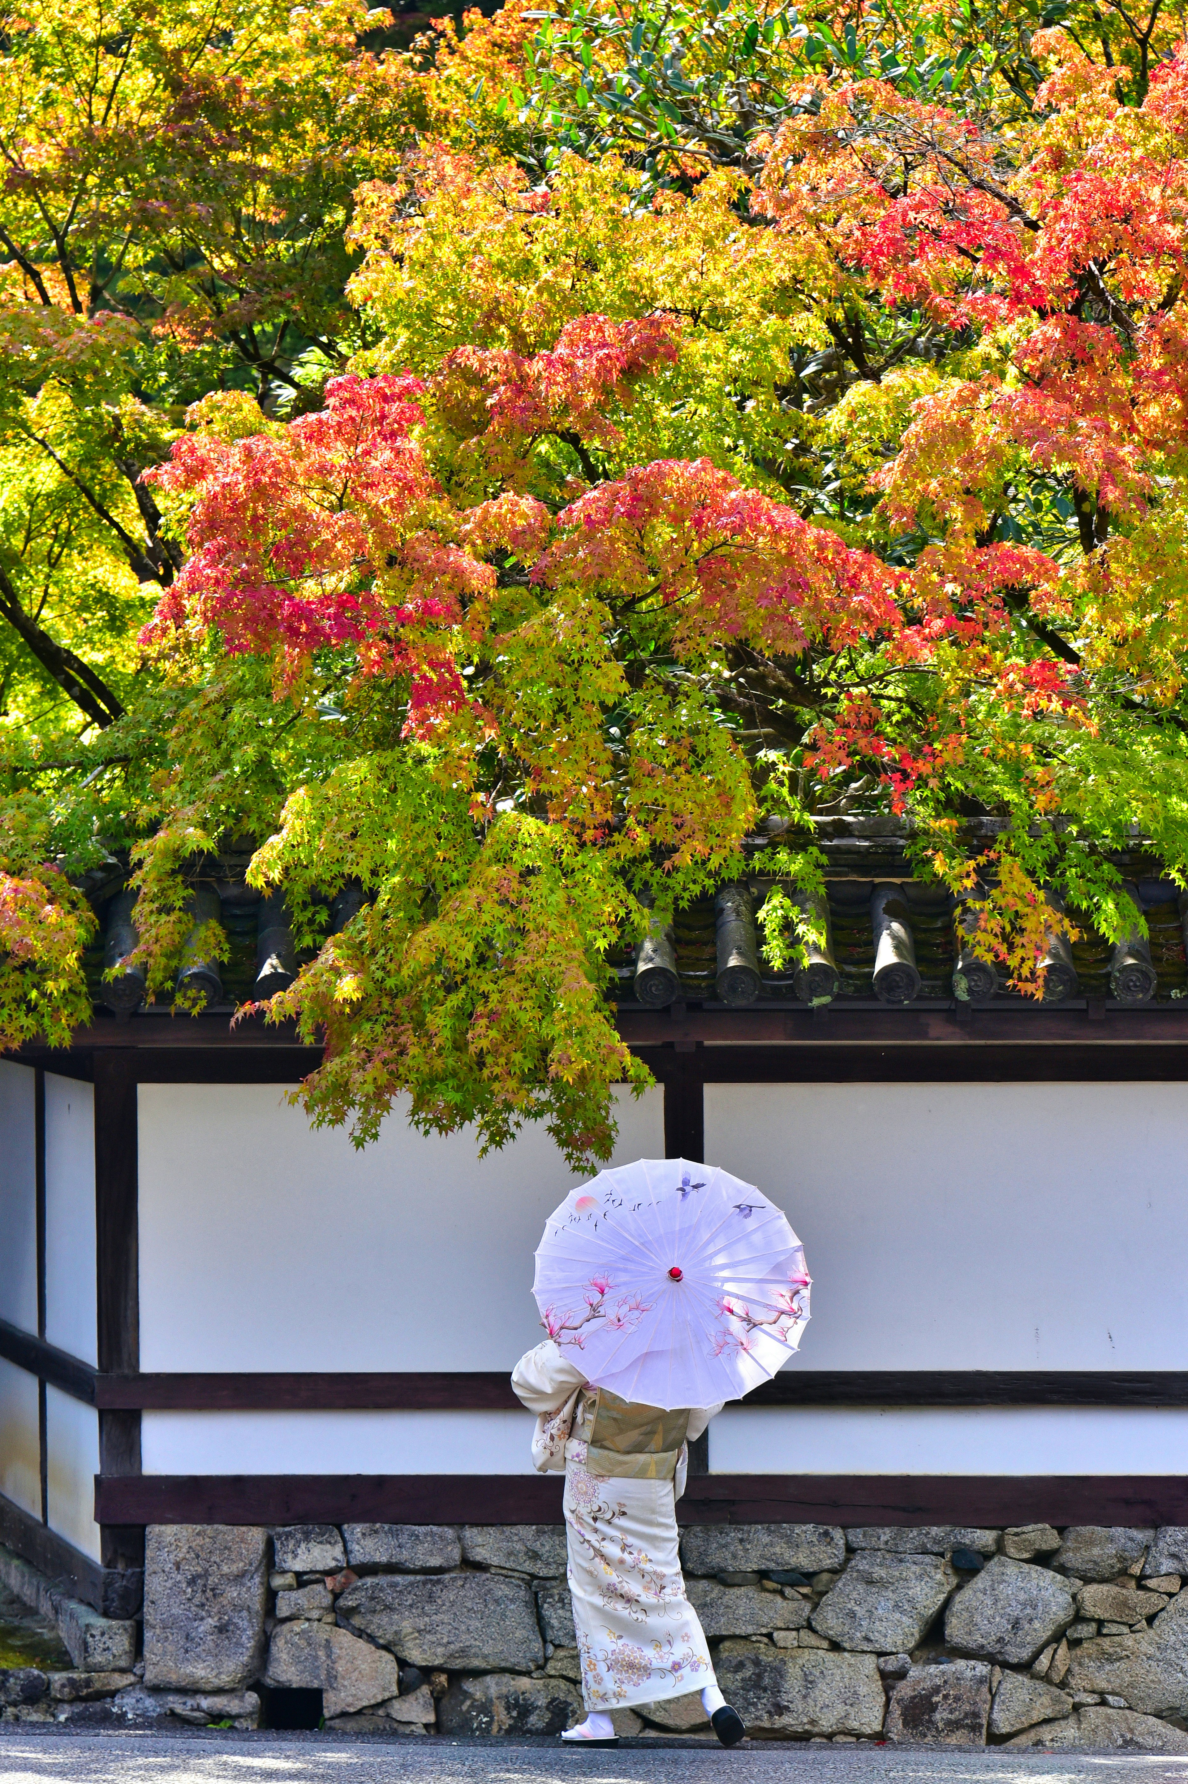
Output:
[[[405,137],[342,214],[334,376],[191,405],[137,473],[171,569],[136,699],[12,756],[11,1038],[78,1020],[98,851],[166,992],[187,863],[248,835],[314,951],[268,1013],[326,1042],[319,1119],[366,1138],[407,1092],[605,1156],[646,1078],[608,954],[744,872],[760,817],[812,885],[813,812],[910,815],[1031,990],[1052,885],[1120,935],[1106,851],[1138,826],[1188,872],[1188,55],[1120,11],[1108,55],[1070,18],[972,71],[936,21],[888,68],[885,16],[755,14],[742,48],[724,16],[664,91],[623,73],[646,12],[510,7],[384,77]],[[787,956],[787,897],[763,917]]]

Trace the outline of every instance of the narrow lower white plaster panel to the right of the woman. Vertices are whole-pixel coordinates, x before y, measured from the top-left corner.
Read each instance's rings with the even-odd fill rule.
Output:
[[[1159,1408],[737,1408],[712,1474],[1188,1474],[1188,1411]]]

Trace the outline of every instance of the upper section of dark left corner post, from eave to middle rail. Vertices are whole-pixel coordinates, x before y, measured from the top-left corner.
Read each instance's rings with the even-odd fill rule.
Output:
[[[139,1368],[136,1072],[128,1053],[95,1058],[98,1367]]]

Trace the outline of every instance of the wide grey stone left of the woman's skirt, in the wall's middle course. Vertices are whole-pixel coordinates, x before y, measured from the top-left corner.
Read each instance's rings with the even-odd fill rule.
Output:
[[[341,1622],[414,1666],[532,1672],[544,1664],[532,1588],[503,1573],[380,1573],[350,1586],[337,1611]]]

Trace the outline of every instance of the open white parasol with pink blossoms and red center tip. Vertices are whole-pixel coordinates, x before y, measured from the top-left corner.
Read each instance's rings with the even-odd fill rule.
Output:
[[[549,1215],[532,1292],[594,1386],[671,1411],[769,1381],[801,1342],[810,1286],[804,1247],[755,1185],[640,1158]]]

